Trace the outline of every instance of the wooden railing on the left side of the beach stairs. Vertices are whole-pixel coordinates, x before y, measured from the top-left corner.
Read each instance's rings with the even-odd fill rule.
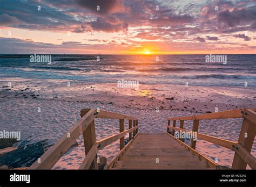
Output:
[[[126,116],[119,113],[108,111],[97,111],[97,109],[83,109],[80,111],[82,117],[75,125],[73,125],[67,133],[65,133],[56,143],[51,146],[29,169],[51,169],[66,153],[72,143],[81,135],[84,136],[85,159],[79,169],[98,169],[97,152],[99,149],[110,145],[110,143],[120,139],[120,148],[124,147],[124,136],[131,132],[133,136],[138,133],[138,118]],[[109,118],[120,120],[120,133],[109,136],[103,140],[96,141],[95,122],[96,118]],[[124,120],[129,120],[129,130],[124,131]],[[135,126],[132,128],[131,121]],[[122,123],[121,123],[122,121]],[[129,140],[132,140],[129,137]],[[121,145],[123,143],[123,145]]]

